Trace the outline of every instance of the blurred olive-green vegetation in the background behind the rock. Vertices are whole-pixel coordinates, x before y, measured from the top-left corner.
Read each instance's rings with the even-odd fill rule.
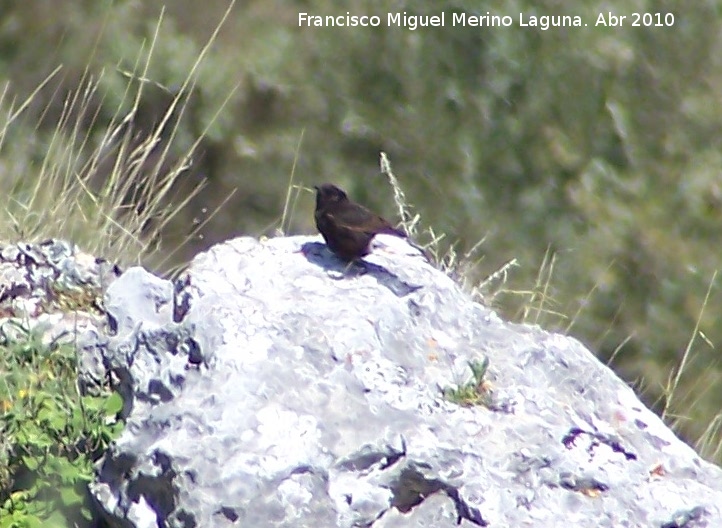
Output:
[[[62,70],[8,130],[0,177],[39,173],[65,95],[85,72],[99,88],[84,148],[130,105],[129,79],[144,85],[134,130],[152,129],[227,5],[169,2],[140,76],[129,72],[154,41],[162,2],[5,2],[0,78],[9,93],[23,99]],[[298,27],[301,11],[385,18],[390,10],[443,11],[447,24]],[[510,15],[514,26],[451,27],[450,14],[462,11]],[[608,11],[628,15],[625,25],[594,27]],[[673,13],[675,23],[631,27],[629,15],[645,11]],[[579,15],[589,26],[522,28],[519,13]],[[161,138],[172,159],[203,136],[179,188],[208,183],[164,228],[163,243],[182,242],[234,190],[179,259],[230,236],[272,234],[297,152],[296,183],[336,182],[391,216],[378,176],[385,151],[426,224],[462,251],[486,237],[478,278],[518,259],[499,309],[528,315],[543,293],[534,321],[614,356],[647,403],[667,406],[682,435],[720,461],[716,284],[702,305],[721,261],[721,15],[718,0],[238,3],[194,75],[185,111],[174,114],[175,133]],[[289,231],[311,233],[312,196],[296,198]],[[538,275],[546,278],[536,291],[519,293]]]

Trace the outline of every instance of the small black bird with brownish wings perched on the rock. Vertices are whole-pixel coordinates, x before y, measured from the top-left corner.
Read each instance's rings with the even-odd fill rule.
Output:
[[[339,258],[353,261],[369,254],[369,244],[379,233],[406,238],[379,215],[352,202],[343,191],[330,183],[317,185],[316,227],[328,248]]]

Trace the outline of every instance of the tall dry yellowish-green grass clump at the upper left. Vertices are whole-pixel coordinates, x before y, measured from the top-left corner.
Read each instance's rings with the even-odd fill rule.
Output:
[[[204,186],[200,181],[188,187],[182,177],[223,104],[182,156],[171,157],[171,146],[195,89],[197,71],[228,12],[180,86],[174,90],[160,87],[174,95],[165,113],[144,136],[138,135],[134,122],[142,117],[141,103],[152,84],[147,79],[148,70],[163,27],[162,15],[153,39],[141,48],[133,69],[113,72],[125,78],[120,96],[100,92],[108,84],[107,72],[95,75],[86,70],[77,88],[64,97],[62,112],[49,135],[32,130],[22,118],[29,107],[43,100],[39,94],[52,85],[61,68],[21,102],[10,97],[5,85],[0,92],[0,112],[7,116],[0,128],[0,150],[8,149],[18,134],[40,136],[44,146],[39,163],[33,161],[36,151],[16,149],[17,163],[2,175],[8,191],[0,211],[5,216],[0,221],[0,240],[32,242],[60,237],[121,265],[144,260],[163,269],[172,262],[183,242],[202,225],[195,226],[181,244],[171,248],[161,244],[161,233]],[[51,113],[57,97],[45,103],[43,114]],[[106,100],[114,100],[115,106],[108,108]],[[110,118],[101,122],[105,115]],[[33,178],[28,178],[28,170],[35,172]]]

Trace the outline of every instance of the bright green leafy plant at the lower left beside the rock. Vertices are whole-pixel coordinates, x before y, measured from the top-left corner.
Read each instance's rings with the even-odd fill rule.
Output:
[[[122,398],[80,394],[75,347],[38,332],[0,337],[0,358],[0,528],[87,524],[87,483],[122,430]]]

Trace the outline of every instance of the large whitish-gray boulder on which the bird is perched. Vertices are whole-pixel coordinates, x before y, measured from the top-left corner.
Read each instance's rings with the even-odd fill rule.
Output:
[[[509,324],[403,240],[236,239],[108,291],[128,425],[112,526],[722,526],[722,470],[574,339]],[[174,304],[172,305],[172,303]],[[442,390],[489,359],[486,405]]]

